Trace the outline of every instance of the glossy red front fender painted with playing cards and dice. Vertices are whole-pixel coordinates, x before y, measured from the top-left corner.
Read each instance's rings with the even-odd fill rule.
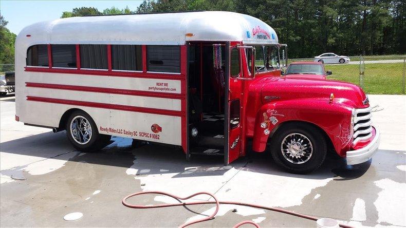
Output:
[[[333,142],[340,156],[352,143],[352,107],[325,99],[301,99],[267,103],[256,114],[252,149],[263,152],[268,137],[288,121],[301,121],[321,128]]]

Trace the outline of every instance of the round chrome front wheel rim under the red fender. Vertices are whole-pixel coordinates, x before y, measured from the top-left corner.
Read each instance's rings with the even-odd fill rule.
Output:
[[[313,145],[306,136],[300,133],[293,133],[287,135],[282,140],[281,152],[283,157],[289,162],[303,164],[313,154]]]

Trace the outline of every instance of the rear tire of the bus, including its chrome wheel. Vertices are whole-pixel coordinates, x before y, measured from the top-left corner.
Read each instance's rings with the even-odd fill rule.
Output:
[[[72,112],[66,121],[66,135],[79,151],[94,152],[108,145],[111,136],[99,134],[96,123],[84,111]]]

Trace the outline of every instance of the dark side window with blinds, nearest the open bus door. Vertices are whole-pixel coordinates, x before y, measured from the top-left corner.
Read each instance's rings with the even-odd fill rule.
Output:
[[[147,46],[148,71],[180,73],[180,46]]]

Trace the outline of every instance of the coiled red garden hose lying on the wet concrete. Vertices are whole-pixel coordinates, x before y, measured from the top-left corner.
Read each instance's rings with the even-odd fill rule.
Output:
[[[165,196],[172,197],[172,198],[174,198],[176,200],[187,200],[187,199],[190,199],[190,198],[192,198],[194,196],[197,196],[197,195],[209,195],[214,199],[214,201],[195,201],[195,202],[167,203],[167,204],[157,204],[157,205],[147,205],[147,206],[146,205],[130,204],[130,203],[126,202],[126,200],[128,198],[131,198],[131,197],[137,196],[137,195],[144,195],[144,194],[160,194],[160,195],[165,195]],[[301,217],[301,218],[310,219],[310,220],[314,220],[314,221],[319,219],[319,218],[316,218],[316,217],[313,217],[313,216],[304,215],[304,214],[300,214],[300,213],[296,213],[296,212],[291,212],[291,211],[283,210],[281,208],[276,208],[276,207],[261,206],[261,205],[256,205],[256,204],[243,203],[243,202],[218,201],[215,196],[213,196],[210,193],[206,193],[206,192],[195,193],[195,194],[192,194],[192,195],[187,196],[187,197],[178,197],[178,196],[175,196],[175,195],[172,195],[172,194],[169,194],[169,193],[164,193],[164,192],[159,192],[159,191],[138,192],[138,193],[133,193],[133,194],[130,194],[130,195],[124,197],[123,200],[122,200],[122,203],[123,203],[124,206],[131,207],[131,208],[140,208],[140,209],[156,208],[156,207],[168,207],[168,206],[186,206],[186,205],[198,205],[198,204],[213,204],[213,203],[216,204],[216,210],[209,217],[202,218],[202,219],[197,219],[197,220],[194,220],[194,221],[191,221],[191,222],[184,223],[184,224],[180,225],[180,227],[186,227],[186,226],[194,224],[194,223],[198,223],[198,222],[207,221],[207,220],[212,219],[217,214],[220,204],[234,204],[234,205],[242,205],[242,206],[251,206],[251,207],[255,207],[255,208],[261,208],[261,209],[265,209],[265,210],[270,210],[270,211],[281,212],[281,213],[285,213],[285,214],[289,214],[289,215],[294,215],[294,216],[298,216],[298,217]],[[243,221],[243,222],[240,222],[240,223],[236,224],[234,227],[238,227],[238,226],[241,226],[243,224],[252,224],[252,225],[254,225],[256,227],[260,227],[258,224],[256,224],[253,221]],[[344,227],[344,228],[351,228],[352,227],[352,226],[344,225],[344,224],[340,224],[340,226]]]

